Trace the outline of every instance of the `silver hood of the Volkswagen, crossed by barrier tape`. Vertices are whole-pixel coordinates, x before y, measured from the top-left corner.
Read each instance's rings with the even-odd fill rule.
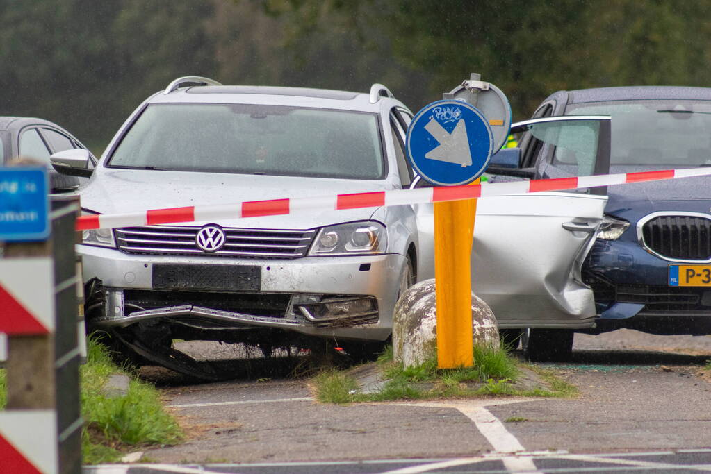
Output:
[[[392,187],[391,187],[392,188]],[[386,181],[331,178],[231,175],[227,173],[115,170],[104,168],[80,189],[83,209],[124,214],[183,206],[236,204],[242,201],[297,197],[328,197],[351,192],[382,191]],[[288,216],[216,219],[228,227],[313,228],[370,219],[375,209],[314,211]],[[203,225],[197,222],[186,225]]]

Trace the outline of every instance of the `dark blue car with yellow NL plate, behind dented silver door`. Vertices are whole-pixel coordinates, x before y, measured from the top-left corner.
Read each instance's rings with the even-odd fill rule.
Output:
[[[611,116],[609,166],[590,165],[598,150],[549,145],[529,131],[520,137],[520,155],[500,153],[488,172],[511,180],[711,165],[711,88],[560,91],[533,118],[597,114]],[[514,157],[518,167],[507,170]],[[588,190],[605,191],[606,217],[582,267],[594,290],[597,324],[584,331],[711,334],[711,178]],[[572,331],[528,329],[522,340],[533,360],[560,360],[572,349]]]

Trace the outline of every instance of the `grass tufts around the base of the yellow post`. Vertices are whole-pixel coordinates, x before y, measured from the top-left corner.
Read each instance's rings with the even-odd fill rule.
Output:
[[[518,377],[513,358],[504,349],[474,348],[472,368],[438,369],[437,358],[403,368],[395,363],[392,347],[378,358],[381,373],[389,379],[375,393],[358,391],[358,382],[347,373],[328,370],[314,378],[316,398],[321,402],[346,404],[395,399],[521,395],[511,382]]]

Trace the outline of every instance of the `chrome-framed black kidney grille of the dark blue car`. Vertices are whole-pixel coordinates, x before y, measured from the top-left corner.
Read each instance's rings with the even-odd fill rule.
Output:
[[[701,216],[657,216],[642,227],[646,248],[667,258],[711,258],[711,219]]]

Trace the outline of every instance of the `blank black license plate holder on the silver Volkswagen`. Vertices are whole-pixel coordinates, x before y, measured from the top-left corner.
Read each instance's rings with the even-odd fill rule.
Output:
[[[153,265],[155,290],[250,291],[262,287],[257,265]]]

